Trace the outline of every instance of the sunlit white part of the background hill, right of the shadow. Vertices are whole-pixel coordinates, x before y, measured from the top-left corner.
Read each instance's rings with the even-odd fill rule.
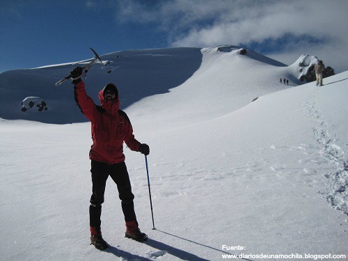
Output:
[[[152,124],[157,128],[169,122],[171,127],[181,127],[223,116],[261,95],[300,83],[285,65],[252,51],[241,55],[239,49],[230,46],[202,49],[200,68],[191,78],[170,89],[170,93],[157,95],[155,104],[153,97],[148,97],[127,111],[136,116],[151,113]],[[289,86],[280,84],[280,77],[289,79]],[[139,106],[143,109],[139,110]]]

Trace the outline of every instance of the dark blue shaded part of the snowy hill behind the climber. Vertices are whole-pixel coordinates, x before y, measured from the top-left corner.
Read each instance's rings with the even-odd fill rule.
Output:
[[[87,90],[97,102],[98,91],[113,82],[118,86],[121,106],[125,108],[142,97],[166,93],[169,88],[182,84],[199,68],[201,57],[198,48],[131,50],[101,55],[109,64],[104,68],[100,63],[93,65],[87,74]],[[88,61],[1,73],[0,117],[50,123],[86,121],[76,109],[70,81],[55,86],[70,70],[86,63]],[[41,97],[47,102],[45,114],[22,113],[20,104],[29,96]]]

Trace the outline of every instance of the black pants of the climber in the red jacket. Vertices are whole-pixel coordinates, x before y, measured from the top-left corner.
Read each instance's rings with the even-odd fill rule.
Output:
[[[99,161],[91,162],[93,194],[90,197],[90,226],[100,227],[100,215],[102,214],[102,203],[104,203],[104,192],[106,180],[110,177],[116,183],[118,188],[118,196],[121,200],[122,211],[125,215],[125,221],[136,221],[134,212],[134,195],[129,181],[129,175],[125,162],[108,165]]]

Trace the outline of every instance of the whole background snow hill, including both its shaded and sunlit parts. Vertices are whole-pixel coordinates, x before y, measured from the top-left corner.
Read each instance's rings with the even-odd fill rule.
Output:
[[[218,52],[218,48],[221,52]],[[221,46],[207,49],[173,48],[116,52],[101,56],[108,65],[93,65],[87,74],[86,84],[90,96],[97,100],[97,92],[109,82],[118,86],[121,109],[143,97],[168,93],[171,88],[180,97],[172,106],[190,104],[196,114],[200,110],[213,110],[214,116],[238,109],[255,97],[300,84],[291,68],[282,63],[249,51],[239,54],[239,47]],[[81,63],[52,65],[28,70],[13,70],[0,74],[0,117],[26,119],[49,123],[83,122],[86,118],[76,109],[69,81],[55,86],[56,81],[69,74]],[[197,77],[191,78],[195,74]],[[279,84],[280,78],[290,80],[289,86]],[[189,88],[187,88],[189,86]],[[182,99],[182,92],[185,99]],[[194,95],[194,96],[192,96]],[[192,104],[203,97],[205,104]],[[212,108],[219,101],[219,108]],[[45,113],[21,111],[26,97],[40,97],[47,103]],[[162,99],[166,99],[161,97]],[[173,95],[171,95],[173,99]],[[165,102],[164,102],[165,103]]]

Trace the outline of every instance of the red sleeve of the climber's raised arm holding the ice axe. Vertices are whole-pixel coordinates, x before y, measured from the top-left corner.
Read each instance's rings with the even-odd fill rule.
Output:
[[[81,112],[84,113],[84,116],[86,116],[90,122],[94,122],[96,106],[93,99],[87,95],[83,81],[79,81],[74,86],[74,99]]]

